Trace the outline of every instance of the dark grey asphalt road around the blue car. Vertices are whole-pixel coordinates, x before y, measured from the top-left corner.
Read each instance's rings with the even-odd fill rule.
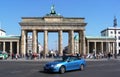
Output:
[[[0,61],[0,77],[120,77],[120,60],[87,61],[84,71],[44,73],[42,61]]]

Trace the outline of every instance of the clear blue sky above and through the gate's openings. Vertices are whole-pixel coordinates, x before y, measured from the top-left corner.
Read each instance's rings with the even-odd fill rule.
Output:
[[[52,4],[64,17],[84,17],[88,23],[86,35],[100,36],[101,30],[113,26],[114,16],[120,25],[120,0],[0,0],[1,27],[7,35],[20,35],[21,17],[42,17],[50,12]],[[43,38],[43,33],[39,36]],[[64,33],[64,46],[67,45],[66,36]],[[43,44],[41,38],[39,40]],[[55,48],[57,38],[57,33],[49,34],[50,48]]]

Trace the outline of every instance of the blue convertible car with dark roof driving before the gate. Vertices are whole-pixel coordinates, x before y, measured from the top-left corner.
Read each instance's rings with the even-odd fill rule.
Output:
[[[45,64],[45,72],[59,72],[65,73],[71,70],[84,70],[86,61],[78,56],[65,56],[60,61],[49,62]]]

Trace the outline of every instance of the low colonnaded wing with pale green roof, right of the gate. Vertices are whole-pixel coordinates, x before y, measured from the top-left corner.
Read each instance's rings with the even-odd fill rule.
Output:
[[[86,53],[115,53],[115,38],[107,36],[86,36]]]

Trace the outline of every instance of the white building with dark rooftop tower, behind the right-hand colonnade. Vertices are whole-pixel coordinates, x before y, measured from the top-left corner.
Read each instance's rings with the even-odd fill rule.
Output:
[[[120,28],[117,27],[117,18],[114,16],[113,27],[108,27],[101,31],[102,36],[115,38],[115,54],[120,54]]]

